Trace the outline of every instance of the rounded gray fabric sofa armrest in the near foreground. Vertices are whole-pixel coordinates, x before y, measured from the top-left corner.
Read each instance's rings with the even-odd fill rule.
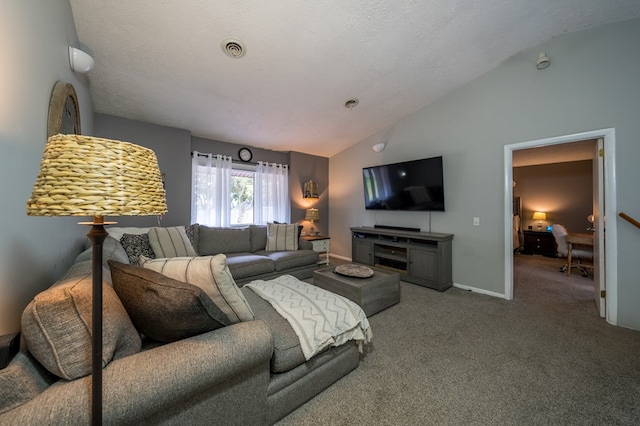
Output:
[[[103,370],[104,424],[266,419],[272,350],[266,323],[250,321],[115,360]],[[88,424],[90,382],[61,380],[0,424]]]

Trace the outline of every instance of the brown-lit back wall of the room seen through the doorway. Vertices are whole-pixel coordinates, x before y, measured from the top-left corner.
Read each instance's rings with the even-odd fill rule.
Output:
[[[545,227],[559,223],[569,232],[587,232],[592,226],[587,221],[593,211],[592,166],[587,160],[514,167],[517,185],[513,195],[522,200],[522,228],[530,225],[537,229],[533,212],[544,211]]]

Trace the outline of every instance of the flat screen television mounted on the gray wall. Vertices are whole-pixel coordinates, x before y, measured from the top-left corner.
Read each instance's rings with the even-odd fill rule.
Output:
[[[442,157],[364,167],[367,210],[444,211]]]

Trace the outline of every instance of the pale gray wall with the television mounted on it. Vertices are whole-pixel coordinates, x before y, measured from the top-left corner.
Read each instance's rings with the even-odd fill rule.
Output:
[[[566,34],[498,68],[329,160],[332,251],[351,256],[348,228],[401,224],[455,234],[453,280],[504,294],[504,146],[615,128],[618,211],[640,217],[640,20]],[[551,67],[535,68],[544,50]],[[594,60],[597,58],[597,60]],[[371,150],[388,142],[381,154]],[[361,168],[444,156],[444,213],[364,209]],[[472,224],[480,217],[480,226]],[[618,324],[640,329],[640,230],[618,221]]]

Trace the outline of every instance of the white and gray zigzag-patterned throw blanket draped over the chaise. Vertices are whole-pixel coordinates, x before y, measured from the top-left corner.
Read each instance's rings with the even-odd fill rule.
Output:
[[[269,302],[293,327],[307,360],[330,346],[355,340],[362,345],[372,338],[369,320],[351,300],[291,275],[246,284]]]

